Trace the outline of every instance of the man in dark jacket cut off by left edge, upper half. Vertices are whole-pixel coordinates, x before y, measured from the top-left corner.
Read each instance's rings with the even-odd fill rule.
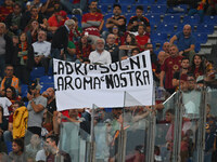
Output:
[[[7,26],[0,23],[0,77],[3,78],[3,69],[5,64],[12,63],[13,42],[12,39],[5,35]]]

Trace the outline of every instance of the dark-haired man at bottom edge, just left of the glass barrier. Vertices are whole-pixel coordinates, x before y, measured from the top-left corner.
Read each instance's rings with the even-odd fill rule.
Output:
[[[58,138],[55,136],[48,136],[46,138],[46,143],[49,149],[49,156],[47,157],[47,161],[54,162],[55,157],[62,157],[64,162],[71,162],[71,156],[58,148]]]

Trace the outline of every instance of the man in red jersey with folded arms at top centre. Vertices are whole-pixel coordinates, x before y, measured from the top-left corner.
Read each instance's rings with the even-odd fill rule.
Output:
[[[98,12],[98,2],[91,1],[89,5],[90,12],[82,15],[81,27],[84,32],[88,35],[88,39],[93,44],[94,41],[100,37],[104,19],[103,15]]]

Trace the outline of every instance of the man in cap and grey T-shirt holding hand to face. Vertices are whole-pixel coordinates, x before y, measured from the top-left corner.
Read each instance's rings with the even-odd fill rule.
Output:
[[[41,136],[41,123],[43,118],[43,110],[47,106],[47,98],[40,95],[41,85],[33,83],[30,85],[30,93],[28,98],[28,131],[33,134]]]

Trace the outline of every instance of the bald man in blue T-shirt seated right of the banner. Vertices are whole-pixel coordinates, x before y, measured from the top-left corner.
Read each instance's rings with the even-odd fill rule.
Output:
[[[169,43],[174,44],[174,42],[177,41],[177,46],[179,49],[179,55],[181,56],[188,56],[190,62],[192,60],[192,57],[195,53],[195,38],[191,32],[191,26],[184,25],[183,31],[178,32],[175,35]]]

